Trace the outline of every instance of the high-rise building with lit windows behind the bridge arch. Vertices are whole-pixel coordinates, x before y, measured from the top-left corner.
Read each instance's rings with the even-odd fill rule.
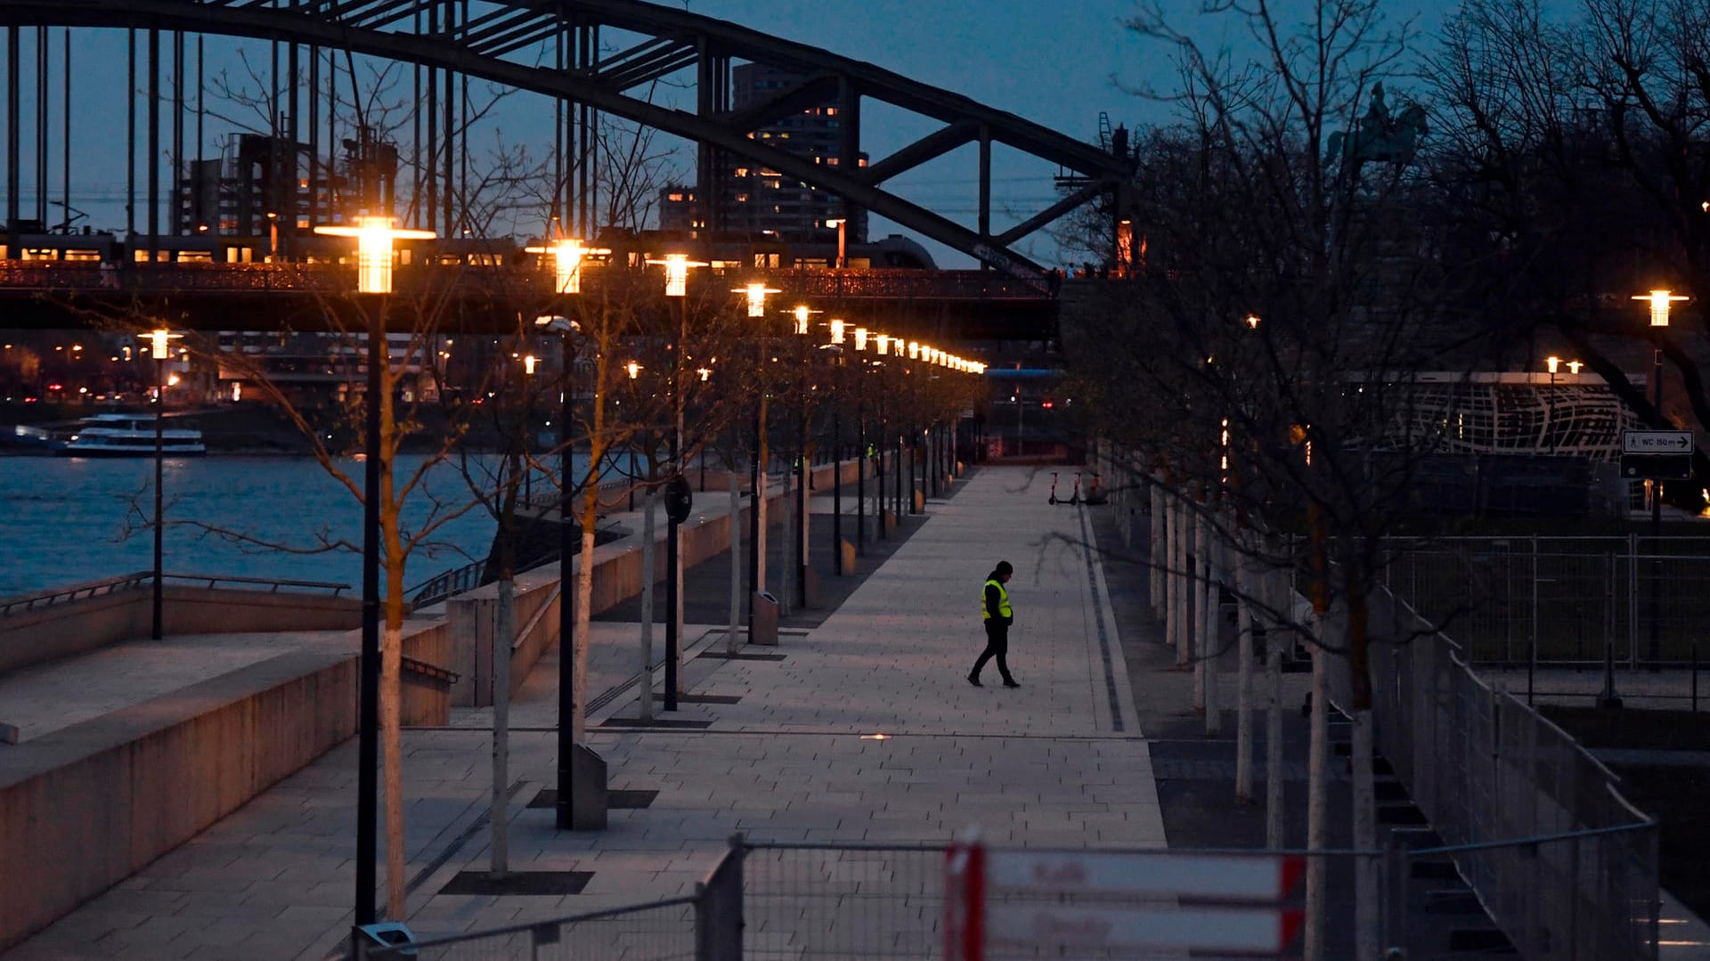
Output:
[[[747,109],[802,80],[804,77],[776,67],[737,65],[730,70],[730,106]],[[811,157],[816,164],[838,166],[840,121],[836,101],[826,101],[761,127],[752,137]],[[867,154],[860,154],[858,162],[865,166]],[[826,226],[826,221],[843,215],[843,202],[836,195],[740,157],[727,157],[722,168],[718,192],[684,185],[660,192],[660,227],[698,234],[711,226],[737,234],[776,236],[788,243],[836,243],[838,229]],[[706,197],[718,203],[716,210],[705,209]],[[850,217],[846,241],[867,241],[865,210]]]

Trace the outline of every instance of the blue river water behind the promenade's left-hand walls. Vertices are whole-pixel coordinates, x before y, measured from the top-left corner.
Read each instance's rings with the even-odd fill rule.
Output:
[[[422,457],[400,457],[400,477],[422,463]],[[361,487],[361,462],[340,462],[340,467]],[[168,458],[161,487],[168,522],[162,568],[168,573],[335,581],[361,588],[361,556],[356,552],[294,554],[209,530],[296,551],[313,549],[320,539],[344,539],[361,547],[363,504],[315,460]],[[539,496],[547,486],[535,480],[534,489]],[[417,532],[436,504],[445,513],[470,499],[458,465],[436,463],[405,501],[404,527]],[[0,597],[154,568],[150,458],[0,457]],[[405,585],[486,557],[496,527],[481,506],[446,522],[434,532],[434,545],[410,556]]]

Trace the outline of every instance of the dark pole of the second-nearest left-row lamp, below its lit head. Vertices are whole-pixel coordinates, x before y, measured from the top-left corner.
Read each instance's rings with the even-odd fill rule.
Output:
[[[571,368],[575,366],[575,345],[571,335],[580,332],[580,325],[568,316],[537,316],[535,327],[549,333],[557,333],[559,374],[564,378],[559,395],[557,417],[564,427],[559,433],[557,455],[557,804],[554,807],[554,824],[559,831],[569,831],[575,821],[571,809],[571,787],[575,783],[571,754],[576,749],[576,730],[571,723],[576,716],[576,610],[573,607],[576,592],[571,587],[569,568],[575,547],[571,544],[571,460],[575,439],[571,429],[575,421],[575,395]]]

